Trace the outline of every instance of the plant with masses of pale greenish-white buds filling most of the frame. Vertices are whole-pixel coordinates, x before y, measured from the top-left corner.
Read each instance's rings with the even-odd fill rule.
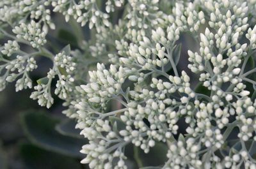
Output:
[[[63,99],[89,168],[254,169],[255,10],[255,0],[0,1],[0,90],[33,88],[47,108]],[[74,33],[62,49],[60,14]],[[38,57],[52,67],[33,82]]]

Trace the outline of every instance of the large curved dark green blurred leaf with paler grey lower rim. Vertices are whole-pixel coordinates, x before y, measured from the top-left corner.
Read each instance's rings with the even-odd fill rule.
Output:
[[[61,135],[55,130],[58,122],[60,122],[59,119],[42,112],[27,112],[21,115],[22,128],[35,145],[67,156],[83,157],[79,151],[86,140]]]

